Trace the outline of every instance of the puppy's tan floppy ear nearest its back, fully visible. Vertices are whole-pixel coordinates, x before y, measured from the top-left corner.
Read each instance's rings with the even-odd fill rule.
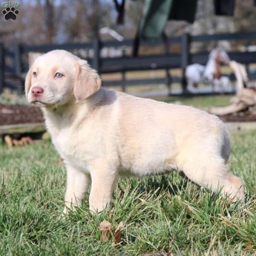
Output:
[[[76,99],[83,100],[99,90],[101,79],[96,70],[88,65],[87,61],[79,59],[76,61],[75,67],[76,80],[73,92]]]

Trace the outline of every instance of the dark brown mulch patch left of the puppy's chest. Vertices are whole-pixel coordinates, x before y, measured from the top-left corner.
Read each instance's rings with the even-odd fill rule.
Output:
[[[40,108],[0,104],[0,125],[44,122]]]

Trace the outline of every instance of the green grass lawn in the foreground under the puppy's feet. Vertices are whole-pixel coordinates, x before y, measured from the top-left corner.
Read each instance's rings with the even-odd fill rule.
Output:
[[[244,179],[244,203],[230,204],[174,172],[142,183],[121,179],[110,212],[90,213],[87,195],[66,218],[65,170],[51,143],[0,145],[0,255],[253,254],[256,131],[234,132],[231,141],[230,169]],[[114,228],[124,221],[120,244],[101,240],[103,220]]]

